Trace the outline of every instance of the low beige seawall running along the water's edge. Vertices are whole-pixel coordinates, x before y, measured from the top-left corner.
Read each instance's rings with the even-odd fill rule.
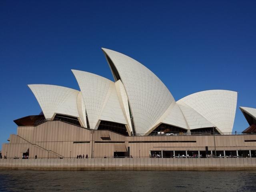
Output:
[[[0,159],[0,170],[256,170],[256,158]]]

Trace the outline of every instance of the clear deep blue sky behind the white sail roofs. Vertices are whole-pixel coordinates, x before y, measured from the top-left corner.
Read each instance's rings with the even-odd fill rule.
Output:
[[[176,100],[238,92],[233,131],[256,108],[256,1],[0,1],[0,145],[41,112],[27,84],[78,89],[71,69],[113,80],[101,47],[148,67]],[[2,146],[0,146],[1,149]]]

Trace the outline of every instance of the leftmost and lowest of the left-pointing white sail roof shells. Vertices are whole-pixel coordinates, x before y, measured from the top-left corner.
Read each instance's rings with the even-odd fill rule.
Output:
[[[45,84],[31,84],[28,87],[36,97],[46,119],[53,118],[56,113],[79,117],[76,104],[78,90]]]

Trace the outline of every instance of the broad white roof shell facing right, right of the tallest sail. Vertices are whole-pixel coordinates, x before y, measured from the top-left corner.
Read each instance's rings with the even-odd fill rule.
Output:
[[[186,104],[224,133],[232,132],[236,102],[237,92],[207,90],[188,95],[177,103]]]

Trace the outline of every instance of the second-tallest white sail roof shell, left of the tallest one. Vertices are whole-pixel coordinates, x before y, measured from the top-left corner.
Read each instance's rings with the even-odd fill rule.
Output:
[[[116,94],[114,82],[89,72],[72,70],[86,106],[91,129],[97,129],[99,120],[127,124]]]

